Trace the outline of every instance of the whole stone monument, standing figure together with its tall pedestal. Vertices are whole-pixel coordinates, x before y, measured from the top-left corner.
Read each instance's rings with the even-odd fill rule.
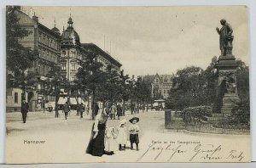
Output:
[[[222,115],[230,115],[231,109],[240,101],[237,94],[236,85],[236,68],[238,64],[235,56],[232,54],[232,28],[226,20],[220,20],[222,28],[216,31],[219,35],[219,48],[221,55],[218,57],[218,62],[215,64],[217,69],[216,81],[216,104],[213,108],[213,113],[220,113]]]

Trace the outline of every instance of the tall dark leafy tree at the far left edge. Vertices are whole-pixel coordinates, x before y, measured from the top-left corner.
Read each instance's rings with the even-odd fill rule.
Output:
[[[26,98],[26,89],[34,86],[34,74],[28,71],[38,58],[37,49],[25,48],[20,41],[30,34],[19,25],[17,16],[19,7],[6,8],[6,65],[7,87],[20,87],[23,98]]]

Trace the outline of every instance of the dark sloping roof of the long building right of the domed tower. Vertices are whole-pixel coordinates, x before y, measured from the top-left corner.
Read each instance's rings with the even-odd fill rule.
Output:
[[[89,51],[90,49],[95,49],[97,52],[99,52],[99,54],[101,54],[105,59],[107,59],[109,62],[117,65],[118,67],[121,67],[122,64],[119,63],[118,60],[113,59],[113,57],[109,54],[106,53],[102,50],[102,48],[99,48],[98,46],[96,46],[96,44],[94,43],[81,43],[81,46],[86,50]]]

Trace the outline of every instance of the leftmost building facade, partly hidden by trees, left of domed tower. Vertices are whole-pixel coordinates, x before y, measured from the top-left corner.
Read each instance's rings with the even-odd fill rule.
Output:
[[[47,80],[47,74],[53,66],[60,62],[60,47],[61,36],[60,31],[54,27],[48,27],[39,23],[36,15],[29,17],[21,10],[16,11],[17,16],[20,18],[19,24],[22,28],[30,31],[28,36],[20,39],[20,43],[24,47],[38,50],[38,60],[33,63],[33,67],[29,71],[37,75],[37,83],[35,89],[26,91],[26,99],[29,103],[29,110],[42,109],[43,106],[47,107],[50,102],[54,102],[54,97],[45,95],[44,81]],[[7,95],[7,110],[18,111],[20,110],[22,91],[19,88],[11,88]]]

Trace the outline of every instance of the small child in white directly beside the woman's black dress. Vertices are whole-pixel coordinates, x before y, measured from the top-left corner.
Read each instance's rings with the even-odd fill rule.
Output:
[[[108,155],[114,154],[113,151],[116,150],[116,142],[114,139],[117,137],[116,133],[114,132],[113,127],[107,127],[106,129],[106,141],[105,141],[105,153]]]

